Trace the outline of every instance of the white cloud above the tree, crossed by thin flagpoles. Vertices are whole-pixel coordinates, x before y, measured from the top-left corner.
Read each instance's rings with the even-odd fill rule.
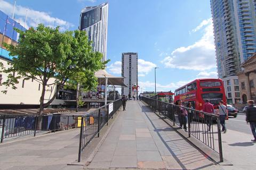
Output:
[[[0,10],[5,12],[9,16],[12,16],[13,4],[3,1],[3,0],[0,0],[0,4],[1,4]],[[27,12],[27,10],[28,10],[28,12]],[[20,24],[23,26],[25,25],[26,12],[27,12],[26,28],[36,27],[39,23],[43,23],[49,27],[60,26],[61,31],[67,30],[70,27],[74,27],[74,25],[72,23],[61,20],[59,18],[54,18],[54,17],[50,16],[49,13],[36,11],[36,10],[30,9],[28,7],[16,5],[14,18],[16,21],[20,21]]]

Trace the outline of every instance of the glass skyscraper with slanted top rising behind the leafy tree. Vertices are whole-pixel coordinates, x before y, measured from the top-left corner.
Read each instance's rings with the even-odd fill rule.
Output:
[[[107,59],[108,35],[108,3],[98,6],[87,6],[80,14],[80,30],[87,32],[89,41],[92,41],[94,52],[103,54],[102,61]]]

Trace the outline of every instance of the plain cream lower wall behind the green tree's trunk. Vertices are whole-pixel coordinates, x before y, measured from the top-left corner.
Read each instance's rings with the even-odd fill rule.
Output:
[[[4,67],[8,67],[7,61],[0,58],[0,62],[4,64]],[[7,74],[2,74],[2,82],[6,80]],[[55,79],[50,79],[49,83],[54,82]],[[40,84],[35,80],[25,80],[24,87],[22,88],[22,81],[23,79],[19,80],[17,84],[17,89],[12,89],[9,87],[7,89],[7,94],[3,94],[0,92],[0,104],[25,104],[25,105],[39,105],[40,104],[40,97],[42,94],[42,84]],[[5,90],[5,86],[0,86],[0,91]],[[44,103],[47,103],[52,96],[55,94],[56,85],[46,87],[45,91],[45,100]],[[64,100],[54,100],[54,105],[65,104]]]

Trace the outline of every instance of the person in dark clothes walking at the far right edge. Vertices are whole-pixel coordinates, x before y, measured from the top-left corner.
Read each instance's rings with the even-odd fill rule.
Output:
[[[248,100],[247,103],[249,106],[246,108],[246,122],[250,123],[252,134],[254,139],[252,139],[252,142],[256,142],[256,106],[254,106],[253,100]]]

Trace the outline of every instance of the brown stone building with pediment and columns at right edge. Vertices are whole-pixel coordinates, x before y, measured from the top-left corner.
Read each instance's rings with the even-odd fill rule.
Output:
[[[243,71],[239,72],[238,79],[241,85],[241,101],[256,101],[256,53],[241,64]]]

